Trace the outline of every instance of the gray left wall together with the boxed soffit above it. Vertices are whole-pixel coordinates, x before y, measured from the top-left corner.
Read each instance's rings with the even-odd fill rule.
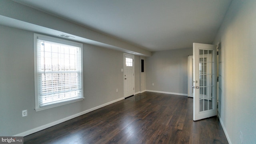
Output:
[[[0,25],[0,136],[28,134],[122,99],[123,52],[151,55],[138,46],[11,0],[0,0],[0,19],[2,25],[14,27]],[[84,100],[35,112],[34,32],[53,36],[64,33],[98,45],[83,44]],[[136,92],[140,92],[141,83],[139,59],[135,56]],[[26,109],[28,116],[22,117]]]

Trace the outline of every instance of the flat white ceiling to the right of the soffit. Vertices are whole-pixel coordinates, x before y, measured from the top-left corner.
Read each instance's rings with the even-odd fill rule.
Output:
[[[232,0],[13,0],[150,51],[212,44]]]

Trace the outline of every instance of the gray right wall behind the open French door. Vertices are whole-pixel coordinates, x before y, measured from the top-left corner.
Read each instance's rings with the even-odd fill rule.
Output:
[[[221,48],[220,122],[230,144],[256,142],[256,0],[233,0],[214,44]]]

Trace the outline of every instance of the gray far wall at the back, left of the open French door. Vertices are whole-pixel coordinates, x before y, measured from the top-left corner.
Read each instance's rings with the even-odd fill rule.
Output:
[[[192,48],[153,52],[146,58],[146,89],[188,94],[188,55]]]

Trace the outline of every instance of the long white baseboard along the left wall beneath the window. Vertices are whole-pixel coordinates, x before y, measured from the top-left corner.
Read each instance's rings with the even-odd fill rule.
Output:
[[[124,98],[119,98],[119,99],[117,99],[117,100],[113,100],[113,101],[111,101],[111,102],[107,102],[107,103],[102,104],[102,105],[100,105],[100,106],[96,106],[96,107],[94,107],[94,108],[90,108],[89,110],[85,110],[85,111],[83,111],[83,112],[79,112],[79,113],[74,114],[74,115],[72,115],[72,116],[68,116],[68,117],[66,117],[66,118],[62,118],[62,119],[60,119],[60,120],[56,120],[55,122],[51,122],[51,123],[49,123],[49,124],[45,124],[45,125],[43,125],[43,126],[39,126],[39,127],[37,127],[37,128],[33,128],[33,129],[31,129],[31,130],[27,130],[27,131],[25,131],[25,132],[22,132],[22,133],[20,133],[20,134],[16,134],[16,135],[14,135],[14,136],[27,136],[27,135],[33,134],[33,133],[35,133],[35,132],[39,132],[40,130],[44,130],[44,129],[46,129],[46,128],[50,128],[51,126],[60,124],[60,123],[65,122],[65,121],[67,121],[67,120],[71,120],[72,118],[76,118],[76,117],[78,117],[78,116],[82,116],[83,114],[86,114],[86,113],[88,113],[88,112],[92,112],[92,111],[94,111],[94,110],[97,110],[97,109],[99,109],[99,108],[102,108],[102,107],[104,107],[104,106],[107,106],[107,105],[109,105],[109,104],[112,104],[112,103],[114,103],[114,102],[118,102],[118,101],[120,101],[120,100],[124,100]]]

